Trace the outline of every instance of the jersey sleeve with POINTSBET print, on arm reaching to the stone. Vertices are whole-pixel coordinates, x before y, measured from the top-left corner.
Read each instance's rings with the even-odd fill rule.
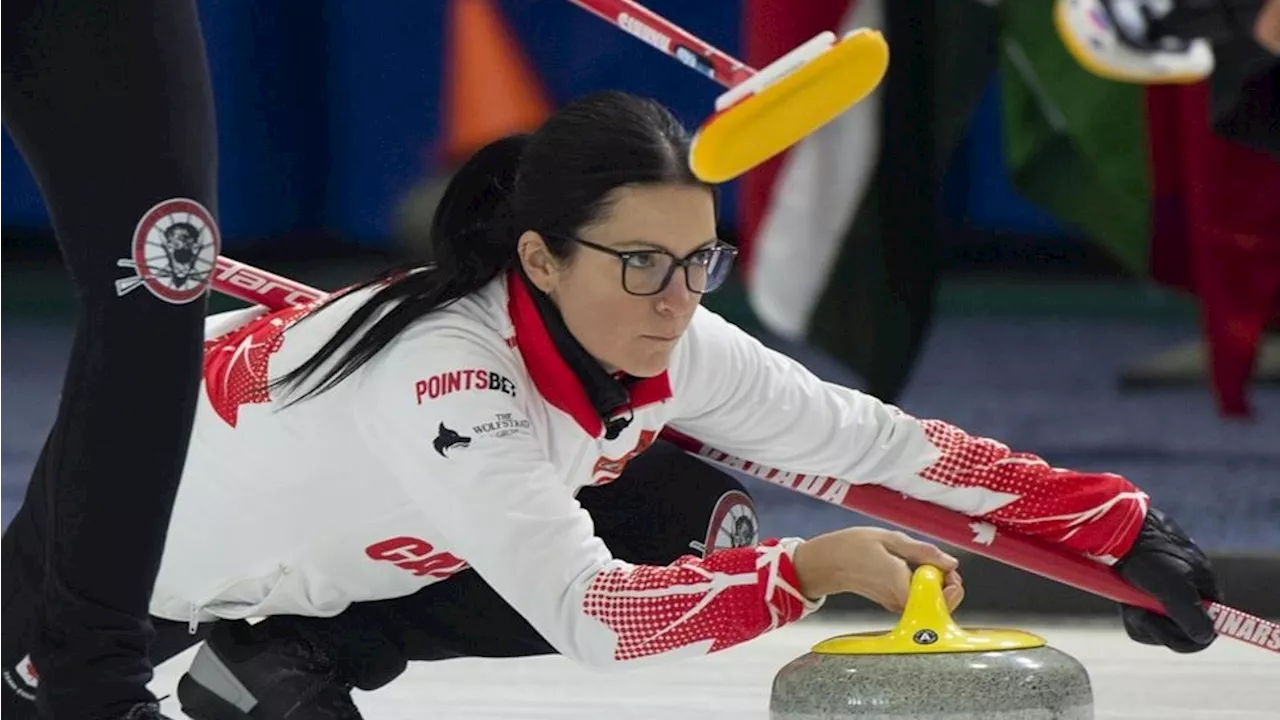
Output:
[[[428,539],[559,653],[593,667],[704,655],[817,607],[796,589],[794,539],[668,566],[614,559],[539,438],[541,398],[483,343],[434,333],[429,346],[397,347],[362,379],[358,423],[438,533]],[[460,389],[465,379],[448,379],[458,373],[485,374],[485,387]]]

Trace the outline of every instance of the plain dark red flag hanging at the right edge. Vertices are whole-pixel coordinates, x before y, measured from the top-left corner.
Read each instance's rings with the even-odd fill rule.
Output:
[[[1147,99],[1152,274],[1199,300],[1219,409],[1247,418],[1258,345],[1280,310],[1280,163],[1212,132],[1206,83]]]

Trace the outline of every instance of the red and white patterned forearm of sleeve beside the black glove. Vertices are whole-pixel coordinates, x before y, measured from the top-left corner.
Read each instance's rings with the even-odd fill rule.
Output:
[[[922,478],[987,491],[972,497],[974,506],[956,510],[1108,564],[1137,539],[1147,495],[1123,477],[1052,468],[1036,455],[1012,452],[940,420],[920,425],[942,452],[918,473]]]

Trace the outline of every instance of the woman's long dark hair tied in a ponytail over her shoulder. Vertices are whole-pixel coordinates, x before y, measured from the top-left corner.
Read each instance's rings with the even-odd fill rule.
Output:
[[[516,241],[543,233],[568,258],[563,240],[598,220],[623,186],[703,184],[689,169],[690,136],[660,104],[623,92],[571,102],[532,135],[479,150],[452,178],[431,219],[429,263],[394,268],[348,288],[385,283],[310,359],[275,384],[296,388],[358,333],[355,343],[298,400],[342,382],[415,320],[472,295],[518,265]],[[365,325],[389,307],[369,328]],[[362,332],[361,332],[362,331]]]

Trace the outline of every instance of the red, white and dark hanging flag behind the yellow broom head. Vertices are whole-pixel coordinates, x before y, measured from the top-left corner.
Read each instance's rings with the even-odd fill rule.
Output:
[[[884,32],[881,87],[744,178],[751,309],[771,332],[845,363],[892,401],[933,315],[937,191],[995,67],[996,13],[974,0],[746,0],[745,60],[813,35]]]

